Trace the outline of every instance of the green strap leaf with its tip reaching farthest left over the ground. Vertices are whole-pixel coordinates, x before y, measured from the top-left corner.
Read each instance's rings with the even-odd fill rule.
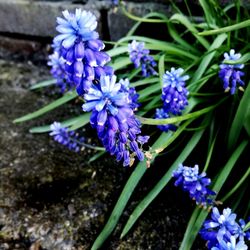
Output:
[[[62,104],[69,102],[71,100],[73,100],[74,98],[77,97],[77,93],[74,92],[67,92],[64,96],[62,96],[61,98],[55,100],[54,102],[51,102],[50,104],[44,106],[43,108],[32,112],[30,114],[27,114],[25,116],[22,116],[20,118],[15,119],[13,122],[14,123],[19,123],[19,122],[24,122],[24,121],[28,121],[28,120],[32,120],[34,118],[37,118],[59,106],[61,106]]]

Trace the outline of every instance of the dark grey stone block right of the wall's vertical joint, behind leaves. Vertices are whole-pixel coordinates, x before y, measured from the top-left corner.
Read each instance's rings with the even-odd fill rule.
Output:
[[[171,13],[170,5],[157,3],[126,3],[126,9],[129,13],[139,17],[154,11],[165,15]],[[126,35],[133,24],[135,24],[135,21],[125,16],[120,7],[117,10],[111,9],[108,11],[108,27],[112,41],[116,41]]]

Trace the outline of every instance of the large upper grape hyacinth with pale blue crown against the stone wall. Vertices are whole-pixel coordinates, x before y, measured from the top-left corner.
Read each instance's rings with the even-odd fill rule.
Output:
[[[60,34],[53,42],[65,60],[67,82],[74,84],[82,96],[93,80],[98,80],[103,74],[112,75],[113,69],[105,66],[110,57],[101,51],[104,43],[95,31],[96,17],[81,9],[76,9],[75,13],[65,10],[62,14],[64,18],[57,18],[56,27]]]

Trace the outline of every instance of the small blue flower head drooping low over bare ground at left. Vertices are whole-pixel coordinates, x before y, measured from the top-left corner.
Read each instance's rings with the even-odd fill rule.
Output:
[[[75,131],[69,131],[68,128],[63,127],[60,122],[51,124],[50,129],[50,136],[53,136],[55,141],[72,151],[80,151],[81,143],[84,142],[84,138],[80,137]]]

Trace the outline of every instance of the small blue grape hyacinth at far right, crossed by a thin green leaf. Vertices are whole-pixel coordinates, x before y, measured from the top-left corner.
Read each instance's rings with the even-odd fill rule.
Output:
[[[235,54],[234,49],[231,49],[229,54],[224,53],[224,60],[236,61],[240,58],[241,54]],[[244,76],[244,72],[241,71],[244,68],[244,64],[225,64],[223,62],[220,65],[219,78],[223,81],[225,91],[230,90],[231,95],[233,95],[237,87],[245,85],[241,80],[241,77]]]

